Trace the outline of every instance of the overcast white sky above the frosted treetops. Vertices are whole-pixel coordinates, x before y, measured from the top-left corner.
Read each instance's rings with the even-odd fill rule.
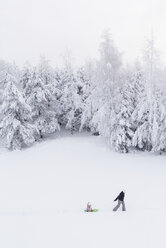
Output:
[[[109,28],[132,61],[152,27],[166,62],[166,0],[0,0],[0,58],[22,65],[45,55],[56,65],[68,48],[83,63]]]

